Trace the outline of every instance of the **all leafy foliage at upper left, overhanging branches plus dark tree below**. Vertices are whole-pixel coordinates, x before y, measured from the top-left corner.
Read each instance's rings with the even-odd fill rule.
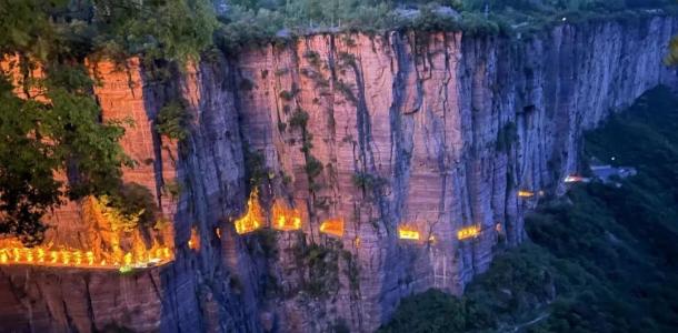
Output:
[[[34,245],[66,198],[123,195],[133,161],[121,122],[101,122],[86,58],[198,60],[215,27],[207,0],[0,0],[0,234]]]

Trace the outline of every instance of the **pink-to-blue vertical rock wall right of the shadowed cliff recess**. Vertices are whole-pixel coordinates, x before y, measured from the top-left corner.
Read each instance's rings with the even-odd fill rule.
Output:
[[[283,331],[340,322],[370,331],[412,292],[461,293],[495,246],[525,240],[522,215],[539,193],[561,193],[562,179],[577,172],[582,131],[647,89],[675,83],[661,61],[675,31],[674,19],[654,18],[511,40],[312,36],[241,54],[238,112],[245,142],[272,170],[265,194],[305,211],[305,236],[279,238],[279,255],[267,260],[287,291],[265,302]],[[295,125],[299,112],[306,129]],[[305,130],[323,165],[313,186]],[[295,250],[335,246],[319,225],[336,216],[346,222],[341,249],[359,263],[359,287],[349,287],[340,260],[341,287],[315,296]],[[421,240],[399,240],[402,225]],[[469,225],[480,235],[459,241]]]

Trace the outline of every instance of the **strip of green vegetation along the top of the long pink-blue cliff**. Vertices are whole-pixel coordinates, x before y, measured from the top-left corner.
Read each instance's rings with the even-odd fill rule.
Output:
[[[218,43],[237,52],[256,42],[313,32],[393,29],[463,30],[470,34],[535,30],[596,18],[634,18],[671,0],[233,0],[218,6]],[[487,7],[486,7],[487,4]],[[640,10],[640,11],[639,11]],[[656,14],[652,13],[652,14]]]

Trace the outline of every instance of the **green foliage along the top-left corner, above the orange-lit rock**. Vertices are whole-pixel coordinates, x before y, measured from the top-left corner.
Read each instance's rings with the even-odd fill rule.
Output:
[[[0,53],[60,58],[144,54],[197,59],[217,21],[209,0],[0,0]]]

